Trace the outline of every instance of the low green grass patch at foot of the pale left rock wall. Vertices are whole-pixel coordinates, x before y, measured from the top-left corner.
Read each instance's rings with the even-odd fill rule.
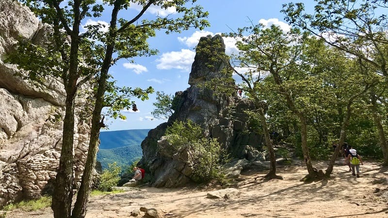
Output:
[[[37,200],[21,201],[17,203],[10,203],[4,206],[4,211],[11,211],[21,209],[24,211],[35,211],[51,206],[51,197],[41,197]]]

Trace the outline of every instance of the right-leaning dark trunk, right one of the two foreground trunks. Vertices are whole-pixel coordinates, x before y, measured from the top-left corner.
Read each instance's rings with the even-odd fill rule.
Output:
[[[121,0],[115,1],[112,10],[112,18],[110,25],[109,44],[106,49],[105,58],[101,66],[100,77],[98,78],[98,88],[96,94],[96,103],[93,109],[92,128],[90,133],[88,156],[85,163],[85,170],[82,174],[81,187],[78,191],[77,201],[74,204],[72,218],[84,218],[86,216],[88,199],[91,192],[93,169],[96,165],[98,152],[98,138],[101,127],[104,126],[101,120],[101,111],[104,107],[104,93],[106,91],[106,83],[108,79],[108,71],[111,66],[114,41],[116,38],[116,22],[117,14],[120,10]]]

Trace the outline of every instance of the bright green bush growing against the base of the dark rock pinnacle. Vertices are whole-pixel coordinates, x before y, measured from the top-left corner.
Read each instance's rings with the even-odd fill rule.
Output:
[[[220,166],[225,163],[226,155],[217,139],[202,137],[202,129],[193,121],[176,121],[167,127],[165,136],[170,149],[175,152],[187,152],[188,159],[182,159],[192,165],[196,182],[207,182],[220,177]]]

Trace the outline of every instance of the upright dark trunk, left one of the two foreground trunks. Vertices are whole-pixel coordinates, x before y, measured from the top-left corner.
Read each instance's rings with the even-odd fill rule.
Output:
[[[64,118],[64,131],[62,138],[62,150],[59,160],[59,169],[55,179],[51,208],[54,218],[70,218],[71,203],[73,198],[73,153],[74,153],[74,104],[77,93],[79,30],[80,30],[80,0],[74,1],[74,23],[70,38],[69,71],[64,75],[66,91],[66,111]],[[58,12],[59,13],[59,12]]]

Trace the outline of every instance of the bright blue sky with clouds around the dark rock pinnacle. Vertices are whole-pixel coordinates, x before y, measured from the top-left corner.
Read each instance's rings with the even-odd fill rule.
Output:
[[[177,91],[184,91],[189,87],[188,79],[191,65],[194,62],[194,47],[201,36],[214,35],[221,32],[236,31],[239,27],[263,23],[264,25],[277,24],[284,30],[290,28],[284,21],[284,15],[280,13],[282,4],[290,0],[197,0],[197,4],[204,7],[209,12],[208,20],[210,27],[203,31],[191,29],[181,33],[164,34],[164,31],[157,33],[155,38],[148,42],[151,48],[159,50],[159,54],[152,57],[133,59],[133,63],[128,60],[120,60],[114,65],[110,73],[117,85],[127,87],[147,88],[152,86],[155,91],[163,91],[167,94],[174,94]],[[312,0],[295,0],[294,2],[305,2],[308,7],[314,3]],[[130,8],[129,14],[137,13],[138,8]],[[153,13],[172,13],[161,11],[155,8]],[[148,13],[146,16],[153,16]],[[87,24],[97,21],[107,22],[104,17],[90,19]],[[234,42],[224,38],[226,53],[237,52]],[[157,125],[166,122],[152,117],[150,112],[154,109],[156,92],[149,96],[149,100],[136,100],[136,112],[124,111],[127,120],[108,120],[108,131],[124,129],[152,129]]]

